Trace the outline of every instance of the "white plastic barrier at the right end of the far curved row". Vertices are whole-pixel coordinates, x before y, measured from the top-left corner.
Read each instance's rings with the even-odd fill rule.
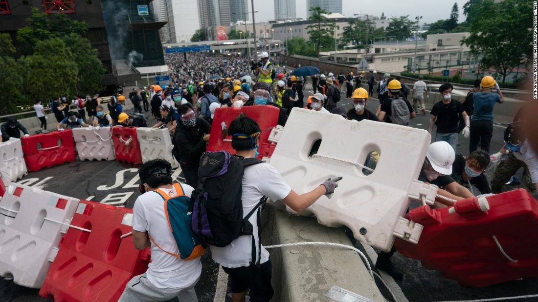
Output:
[[[179,163],[172,157],[172,139],[168,129],[152,129],[140,127],[136,129],[142,161],[155,158],[163,158],[172,164],[172,168],[177,168]]]

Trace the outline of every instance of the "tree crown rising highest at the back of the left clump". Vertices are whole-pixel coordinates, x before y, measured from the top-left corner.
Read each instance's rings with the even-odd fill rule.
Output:
[[[26,21],[30,25],[17,31],[17,49],[23,55],[31,54],[39,41],[65,38],[72,33],[82,35],[88,31],[86,22],[75,21],[61,13],[40,13],[37,8],[32,8],[32,14]]]

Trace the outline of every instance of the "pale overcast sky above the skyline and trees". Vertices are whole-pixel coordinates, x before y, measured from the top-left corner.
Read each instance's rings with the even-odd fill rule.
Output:
[[[414,19],[417,15],[422,16],[422,22],[432,23],[439,19],[448,19],[450,10],[454,2],[458,3],[459,22],[465,20],[463,16],[463,5],[468,0],[342,0],[342,12],[347,17],[353,17],[354,13],[373,14],[381,16],[398,17],[409,15],[409,19]],[[251,0],[249,11],[251,10]],[[306,18],[307,0],[296,0],[295,10],[298,18]],[[254,10],[256,13],[256,22],[269,21],[274,19],[274,0],[254,0]],[[252,18],[251,18],[252,19]]]

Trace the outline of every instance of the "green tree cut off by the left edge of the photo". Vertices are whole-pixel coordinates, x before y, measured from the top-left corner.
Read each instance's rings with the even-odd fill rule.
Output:
[[[20,89],[24,85],[25,69],[20,68],[14,58],[15,47],[9,34],[0,34],[0,114],[16,113],[17,106],[25,103]]]

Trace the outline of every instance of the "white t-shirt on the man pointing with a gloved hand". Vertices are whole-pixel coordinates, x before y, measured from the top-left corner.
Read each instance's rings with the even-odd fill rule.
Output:
[[[284,199],[292,188],[282,179],[278,171],[267,163],[245,167],[243,174],[243,217],[245,217],[260,201],[267,196],[269,200]],[[256,259],[258,259],[258,216],[254,213],[249,222],[254,226],[256,238]],[[242,235],[225,247],[211,247],[213,260],[223,267],[237,268],[250,266],[252,259],[252,236]],[[269,260],[269,252],[261,246],[260,263]]]

